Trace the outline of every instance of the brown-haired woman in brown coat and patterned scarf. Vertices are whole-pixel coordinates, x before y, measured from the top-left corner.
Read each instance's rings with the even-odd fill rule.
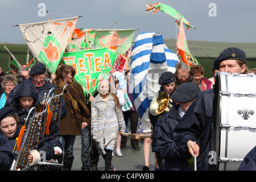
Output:
[[[82,86],[73,81],[76,72],[70,65],[62,65],[56,70],[56,80],[53,83],[62,92],[68,84],[69,92],[64,90],[64,100],[68,110],[67,116],[59,123],[60,142],[63,145],[63,170],[70,171],[73,164],[73,145],[76,135],[80,135],[81,128],[88,126],[90,112],[86,107],[86,100]]]

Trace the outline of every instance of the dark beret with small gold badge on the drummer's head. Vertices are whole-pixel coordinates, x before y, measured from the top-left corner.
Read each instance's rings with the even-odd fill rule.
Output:
[[[238,49],[236,47],[226,48],[224,51],[220,53],[218,57],[214,60],[214,68],[219,69],[219,64],[224,60],[241,60],[246,63],[246,55],[242,49]]]

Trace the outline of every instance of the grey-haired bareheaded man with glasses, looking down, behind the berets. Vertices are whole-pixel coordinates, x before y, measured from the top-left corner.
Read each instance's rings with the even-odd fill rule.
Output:
[[[197,81],[194,80],[193,77],[189,75],[189,68],[187,64],[183,62],[179,62],[175,65],[175,69],[176,69],[176,72],[175,72],[176,86],[180,86],[185,82],[192,82],[192,84],[195,84],[199,88]]]

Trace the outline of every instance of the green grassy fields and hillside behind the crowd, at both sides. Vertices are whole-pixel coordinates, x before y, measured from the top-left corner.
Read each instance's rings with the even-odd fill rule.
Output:
[[[176,40],[168,39],[164,40],[167,47],[176,52]],[[26,63],[27,56],[27,45],[26,44],[5,44],[9,51],[13,52],[15,58],[19,61],[20,64]],[[200,41],[188,41],[189,50],[192,55],[196,57],[204,67],[204,77],[212,77],[212,68],[215,57],[217,57],[221,51],[228,47],[238,47],[243,49],[246,52],[247,56],[247,67],[256,68],[256,43],[217,43],[217,42],[200,42]],[[6,49],[3,47],[3,44],[0,44],[0,67],[6,73],[8,69],[9,54]]]

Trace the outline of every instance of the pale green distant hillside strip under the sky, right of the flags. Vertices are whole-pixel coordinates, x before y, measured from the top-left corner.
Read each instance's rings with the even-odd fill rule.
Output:
[[[176,52],[176,39],[165,39],[164,43]],[[256,43],[225,43],[187,40],[188,48],[194,57],[217,57],[221,51],[228,47],[237,47],[245,51],[248,58],[256,57]]]

